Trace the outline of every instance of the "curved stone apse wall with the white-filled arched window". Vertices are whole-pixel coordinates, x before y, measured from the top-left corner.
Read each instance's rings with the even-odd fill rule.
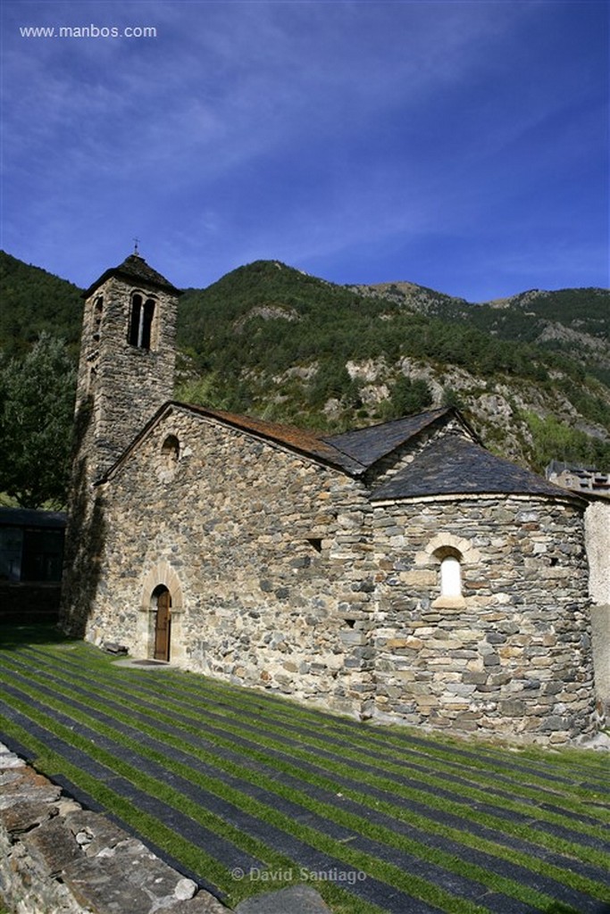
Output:
[[[578,508],[471,496],[379,505],[372,523],[377,717],[551,743],[591,726]]]

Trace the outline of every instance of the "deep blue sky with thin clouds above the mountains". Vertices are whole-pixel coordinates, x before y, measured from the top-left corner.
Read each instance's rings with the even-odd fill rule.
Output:
[[[2,17],[1,246],[21,260],[87,286],[137,237],[181,287],[260,258],[473,302],[610,283],[606,2],[2,0]]]

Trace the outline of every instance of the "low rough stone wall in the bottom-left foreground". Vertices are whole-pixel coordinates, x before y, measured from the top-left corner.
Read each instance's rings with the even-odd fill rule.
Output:
[[[0,743],[0,907],[18,914],[229,914]]]

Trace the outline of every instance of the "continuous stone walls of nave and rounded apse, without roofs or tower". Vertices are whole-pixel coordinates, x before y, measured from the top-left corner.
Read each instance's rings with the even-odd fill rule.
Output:
[[[371,505],[345,473],[177,405],[98,492],[94,643],[153,656],[161,584],[184,668],[486,737],[559,743],[591,726],[583,516],[569,498]],[[447,550],[457,599],[439,591]]]

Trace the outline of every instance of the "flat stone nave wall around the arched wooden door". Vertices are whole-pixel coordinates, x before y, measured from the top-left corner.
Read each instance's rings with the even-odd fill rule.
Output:
[[[359,713],[373,590],[360,484],[178,408],[104,488],[91,640],[152,656],[164,585],[172,662]]]

